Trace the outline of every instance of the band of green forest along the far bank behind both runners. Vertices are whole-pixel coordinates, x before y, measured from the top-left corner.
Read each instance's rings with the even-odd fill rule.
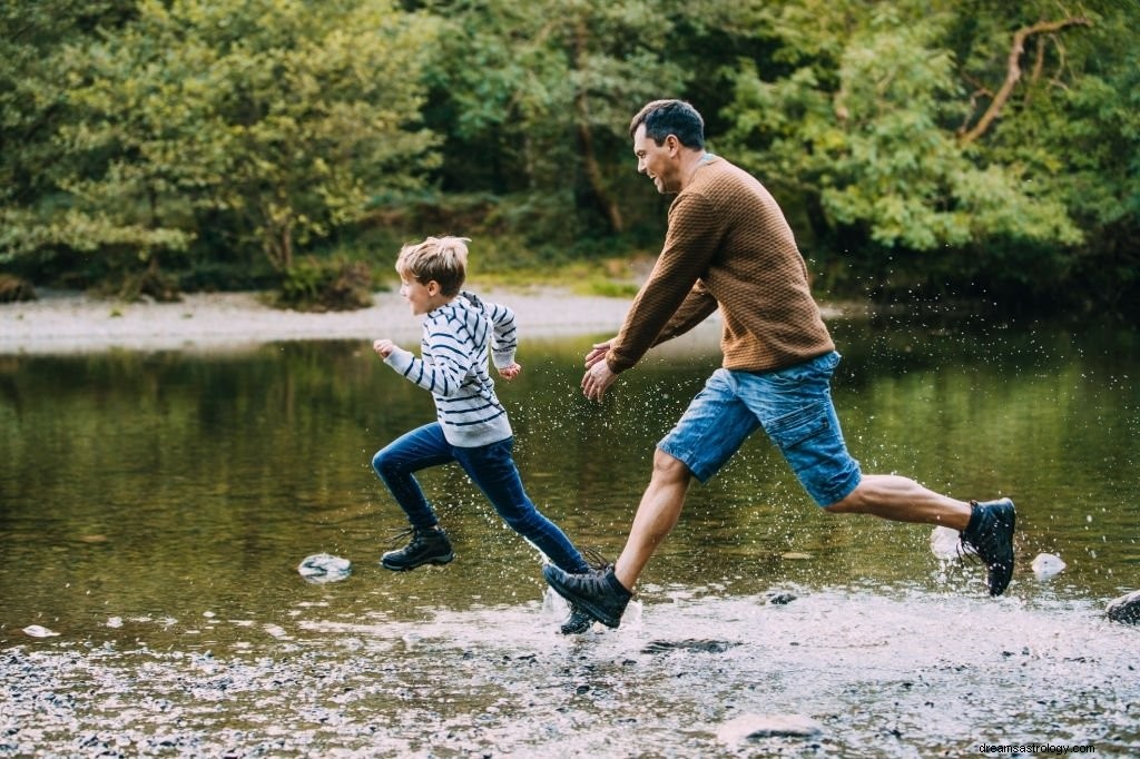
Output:
[[[2,0],[0,299],[370,303],[399,246],[633,288],[686,99],[821,299],[1140,319],[1137,0]]]

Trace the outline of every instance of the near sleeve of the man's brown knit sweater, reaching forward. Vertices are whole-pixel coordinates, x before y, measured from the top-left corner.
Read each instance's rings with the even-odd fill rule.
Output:
[[[708,270],[720,236],[717,214],[705,196],[682,193],[674,199],[665,247],[610,344],[605,360],[612,372],[625,372],[650,348],[715,310],[716,301],[698,279]]]

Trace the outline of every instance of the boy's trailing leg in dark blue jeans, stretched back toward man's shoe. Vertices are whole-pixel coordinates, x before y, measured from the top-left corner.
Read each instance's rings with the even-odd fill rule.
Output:
[[[514,439],[507,438],[479,448],[455,448],[455,459],[483,491],[507,527],[564,571],[588,571],[589,565],[581,553],[554,522],[535,508],[527,496],[519,467],[511,456],[513,446]]]

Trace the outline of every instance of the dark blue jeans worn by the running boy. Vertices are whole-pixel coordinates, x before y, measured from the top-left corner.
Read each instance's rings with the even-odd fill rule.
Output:
[[[439,520],[413,474],[429,466],[457,462],[507,527],[546,554],[562,571],[587,571],[589,565],[565,533],[543,516],[527,497],[519,468],[511,457],[512,448],[514,438],[478,448],[453,446],[443,438],[439,423],[432,422],[381,449],[373,456],[372,467],[408,515],[412,527],[427,529],[439,524]]]

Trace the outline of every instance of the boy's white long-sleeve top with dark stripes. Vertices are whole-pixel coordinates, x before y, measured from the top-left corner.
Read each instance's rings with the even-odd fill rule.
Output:
[[[424,317],[422,358],[397,348],[384,362],[431,392],[449,443],[474,448],[512,434],[495,395],[488,353],[496,367],[511,366],[518,345],[514,311],[463,292]]]

